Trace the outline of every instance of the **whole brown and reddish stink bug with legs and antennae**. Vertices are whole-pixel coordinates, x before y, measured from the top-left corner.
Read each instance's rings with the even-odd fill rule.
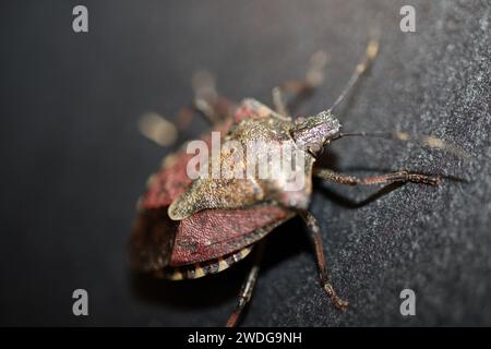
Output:
[[[282,93],[303,96],[312,92],[323,80],[325,53],[313,56],[304,81],[288,82],[273,89],[275,110],[254,99],[246,99],[236,106],[216,93],[211,76],[199,75],[193,83],[196,94],[194,107],[212,121],[213,131],[219,132],[224,145],[231,142],[243,145],[262,140],[299,149],[303,154],[300,172],[304,181],[301,188],[287,190],[283,170],[277,171],[275,178],[261,178],[255,173],[242,178],[212,176],[191,179],[188,165],[194,154],[188,154],[182,148],[169,155],[160,170],[148,180],[147,192],[139,202],[139,216],[131,236],[134,267],[167,279],[193,279],[221,272],[254,250],[254,263],[227,322],[227,326],[233,326],[249,302],[258,278],[262,239],[277,226],[299,215],[312,233],[321,286],[336,308],[345,309],[348,302],[337,296],[328,277],[320,227],[308,210],[312,177],[349,185],[407,181],[436,185],[440,181],[439,176],[407,171],[357,178],[316,167],[315,160],[322,149],[330,142],[344,136],[409,139],[406,133],[342,133],[340,124],[332,112],[373,61],[378,49],[378,41],[371,40],[366,56],[332,108],[302,119],[290,117]],[[189,111],[182,112],[182,116],[185,115]],[[155,130],[157,127],[146,125],[142,129]],[[153,132],[144,133],[155,139]],[[428,146],[457,152],[455,147],[434,137],[420,137],[418,141]],[[213,136],[207,134],[202,142],[213,146]],[[265,159],[267,156],[262,157],[264,152],[259,148],[255,155]],[[209,161],[215,159],[221,164],[231,153],[230,148],[221,147],[217,155],[209,157]],[[249,158],[240,158],[233,167],[243,169],[249,165],[248,161]],[[298,164],[296,166],[298,170]]]

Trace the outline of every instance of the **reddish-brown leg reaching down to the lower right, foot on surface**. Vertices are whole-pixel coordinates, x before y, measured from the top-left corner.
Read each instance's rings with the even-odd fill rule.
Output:
[[[331,298],[331,300],[333,301],[334,306],[336,306],[339,310],[344,310],[348,306],[348,302],[340,299],[337,296],[336,291],[334,290],[333,285],[331,284],[330,276],[327,273],[327,263],[325,262],[325,257],[324,257],[324,246],[322,244],[322,239],[321,239],[321,228],[319,227],[318,220],[308,210],[300,210],[299,214],[306,221],[307,227],[312,232],[321,286],[326,291],[326,293]]]

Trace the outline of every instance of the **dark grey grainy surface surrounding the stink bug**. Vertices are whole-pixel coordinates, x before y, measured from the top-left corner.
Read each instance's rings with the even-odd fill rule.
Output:
[[[375,65],[340,116],[345,130],[432,133],[471,154],[465,165],[414,144],[344,140],[335,166],[358,174],[402,167],[443,173],[355,207],[376,189],[322,184],[312,212],[346,313],[316,279],[300,221],[274,231],[243,325],[491,325],[489,1],[84,1],[89,33],[71,29],[73,1],[2,3],[0,324],[221,325],[247,263],[181,284],[129,272],[134,202],[168,149],[143,140],[137,117],[172,115],[197,68],[219,88],[270,103],[330,52],[327,82],[303,112],[327,107],[382,28]],[[402,4],[417,32],[398,28]],[[204,130],[195,124],[188,135]],[[71,314],[75,288],[88,317]],[[398,312],[403,288],[417,316]]]

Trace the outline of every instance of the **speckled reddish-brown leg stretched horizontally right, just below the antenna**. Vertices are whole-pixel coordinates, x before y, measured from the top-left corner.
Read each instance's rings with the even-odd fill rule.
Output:
[[[381,176],[359,178],[344,173],[338,173],[330,169],[316,168],[314,169],[313,174],[334,183],[347,185],[372,185],[372,184],[394,183],[394,182],[399,183],[414,182],[414,183],[438,185],[441,180],[440,176],[433,177],[420,173],[410,173],[405,170]]]

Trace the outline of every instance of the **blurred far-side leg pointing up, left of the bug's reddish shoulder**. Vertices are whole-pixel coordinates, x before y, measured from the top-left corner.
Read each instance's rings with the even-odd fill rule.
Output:
[[[199,71],[192,79],[194,108],[211,123],[216,124],[230,117],[233,103],[220,96],[216,91],[215,79],[207,71]]]

